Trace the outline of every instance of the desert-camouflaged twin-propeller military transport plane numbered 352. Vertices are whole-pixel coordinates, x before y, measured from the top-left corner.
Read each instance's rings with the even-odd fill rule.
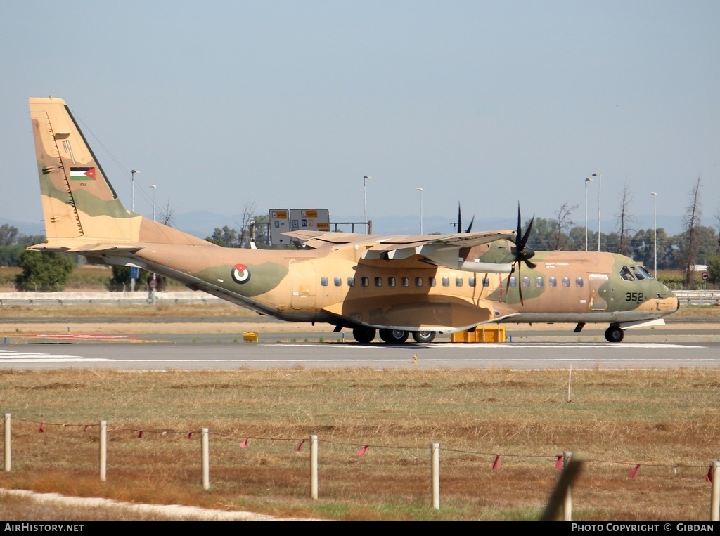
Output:
[[[125,209],[65,101],[30,99],[46,242],[30,247],[138,266],[189,289],[371,342],[431,342],[498,322],[663,324],[678,299],[630,258],[533,252],[517,230],[374,236],[289,232],[298,250],[220,247]],[[533,259],[533,260],[531,260]],[[525,269],[523,270],[523,265]]]

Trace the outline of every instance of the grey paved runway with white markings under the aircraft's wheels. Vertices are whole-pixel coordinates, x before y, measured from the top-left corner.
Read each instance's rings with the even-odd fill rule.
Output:
[[[117,339],[116,339],[117,340]],[[717,368],[720,343],[505,342],[389,346],[382,342],[110,342],[0,345],[0,370],[263,368]]]

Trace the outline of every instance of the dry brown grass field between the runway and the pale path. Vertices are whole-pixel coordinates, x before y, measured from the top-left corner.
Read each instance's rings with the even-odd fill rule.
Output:
[[[286,517],[531,519],[557,479],[555,457],[572,450],[591,460],[574,519],[707,519],[719,390],[720,371],[707,370],[575,371],[570,404],[567,371],[6,372],[13,471],[0,487]],[[295,451],[310,434],[320,438],[319,501],[309,499],[307,442]],[[431,442],[441,444],[439,512]]]

